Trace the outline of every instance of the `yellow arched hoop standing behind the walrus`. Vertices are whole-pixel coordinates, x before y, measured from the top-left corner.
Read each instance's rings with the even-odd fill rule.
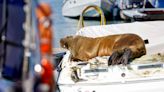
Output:
[[[84,8],[84,10],[82,11],[81,15],[80,15],[80,19],[79,19],[79,23],[78,23],[78,30],[80,28],[84,27],[84,19],[83,19],[83,15],[85,14],[85,12],[90,9],[90,8],[94,8],[101,16],[101,21],[100,21],[100,25],[106,25],[106,19],[104,16],[103,11],[100,9],[100,7],[96,6],[96,5],[90,5],[87,6],[86,8]]]

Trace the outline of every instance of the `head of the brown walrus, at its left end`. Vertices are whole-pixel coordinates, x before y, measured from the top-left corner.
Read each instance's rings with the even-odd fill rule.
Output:
[[[65,38],[60,39],[60,46],[62,48],[68,49],[69,43],[73,40],[73,36],[67,36]]]

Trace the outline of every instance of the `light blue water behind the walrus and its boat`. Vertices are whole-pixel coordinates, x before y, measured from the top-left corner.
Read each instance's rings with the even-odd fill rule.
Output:
[[[60,47],[59,41],[67,35],[74,35],[77,31],[78,19],[71,19],[62,16],[62,0],[41,0],[50,3],[53,10],[53,29],[54,29],[54,47]],[[107,24],[120,23],[122,21],[107,21]],[[99,25],[99,20],[85,20],[85,25]]]

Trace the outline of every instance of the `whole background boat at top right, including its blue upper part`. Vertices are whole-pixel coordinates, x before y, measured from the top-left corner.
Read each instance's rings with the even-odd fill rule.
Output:
[[[135,1],[135,0],[131,0],[131,1]],[[140,0],[139,2],[140,2],[139,4],[140,7],[131,7],[130,9],[123,8],[120,11],[120,17],[124,20],[163,20],[164,19],[163,0]]]

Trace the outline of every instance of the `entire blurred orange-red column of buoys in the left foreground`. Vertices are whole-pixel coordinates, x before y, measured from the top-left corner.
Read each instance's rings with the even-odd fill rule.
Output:
[[[46,92],[54,92],[55,82],[53,75],[53,64],[52,64],[52,42],[53,42],[53,32],[52,32],[52,22],[51,7],[49,4],[42,3],[36,8],[36,18],[37,27],[40,38],[40,53],[41,53],[41,84],[47,85],[49,87]]]

